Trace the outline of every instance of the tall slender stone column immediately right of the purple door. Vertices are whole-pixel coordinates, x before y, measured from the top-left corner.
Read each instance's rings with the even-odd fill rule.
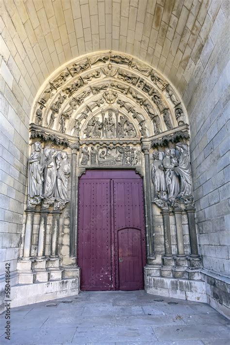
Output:
[[[153,250],[153,234],[152,234],[152,205],[150,193],[150,169],[149,169],[149,146],[143,145],[142,151],[145,156],[145,182],[146,182],[146,201],[147,201],[147,262],[152,265],[154,263],[154,250]]]

